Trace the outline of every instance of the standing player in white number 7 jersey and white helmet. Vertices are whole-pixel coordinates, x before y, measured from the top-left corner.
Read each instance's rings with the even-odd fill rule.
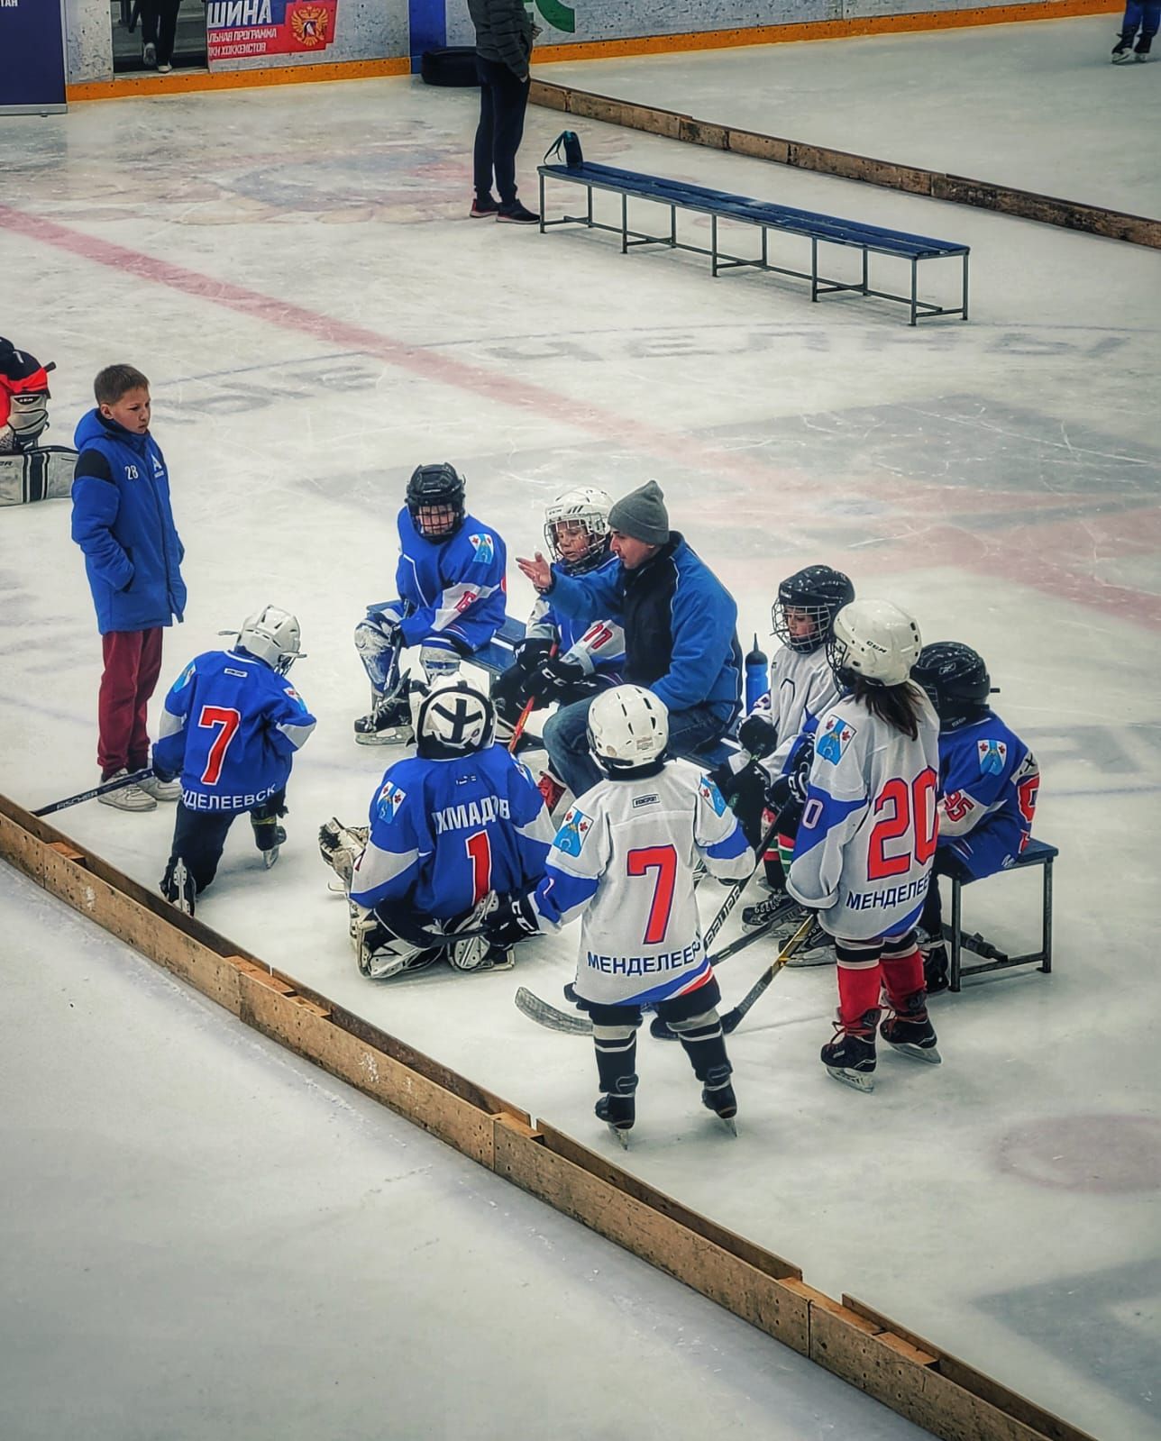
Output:
[[[694,899],[697,857],[722,880],[753,869],[753,852],[713,781],[667,761],[668,712],[641,686],[602,692],[589,708],[589,746],[606,780],[572,806],[534,896],[494,921],[500,940],[580,921],[570,1000],[592,1017],[596,1115],[622,1143],[635,1120],[637,1027],[651,1006],[676,1032],[701,1101],[733,1130],[717,1003],[722,994],[701,944]]]

